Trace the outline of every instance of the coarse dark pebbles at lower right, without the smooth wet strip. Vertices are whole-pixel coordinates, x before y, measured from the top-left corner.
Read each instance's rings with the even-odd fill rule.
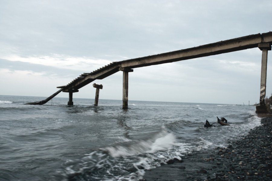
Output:
[[[216,148],[216,155],[209,158],[214,162],[212,175],[207,180],[272,180],[272,118],[263,118],[261,126],[249,134],[232,141],[226,148]],[[223,165],[225,170],[222,170]]]

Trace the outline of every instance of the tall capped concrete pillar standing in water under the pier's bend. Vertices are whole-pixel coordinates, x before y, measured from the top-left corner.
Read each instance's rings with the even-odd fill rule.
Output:
[[[133,69],[119,68],[123,71],[123,109],[128,109],[128,72],[133,72]]]

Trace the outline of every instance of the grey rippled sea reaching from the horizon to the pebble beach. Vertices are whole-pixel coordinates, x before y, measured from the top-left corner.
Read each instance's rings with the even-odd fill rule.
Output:
[[[138,180],[260,125],[255,106],[0,96],[0,180]],[[230,126],[204,128],[225,117]],[[215,124],[218,125],[218,124]]]

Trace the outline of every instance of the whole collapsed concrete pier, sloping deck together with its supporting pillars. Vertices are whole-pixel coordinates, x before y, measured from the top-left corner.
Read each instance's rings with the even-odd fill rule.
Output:
[[[91,83],[92,81],[95,81],[96,79],[103,79],[118,71],[123,71],[122,108],[128,109],[128,72],[132,72],[133,68],[159,65],[187,59],[195,59],[199,57],[218,55],[222,53],[258,47],[262,50],[260,104],[263,105],[263,98],[265,97],[266,91],[267,51],[271,50],[271,43],[272,32],[258,33],[230,40],[219,41],[216,43],[201,45],[193,48],[181,49],[173,52],[161,53],[157,55],[145,56],[119,62],[112,62],[109,65],[105,65],[104,67],[97,69],[96,71],[92,71],[91,73],[83,73],[66,86],[60,86],[58,88],[61,88],[63,92],[69,92],[69,102],[72,103],[72,95],[70,96],[70,92],[78,91],[81,87],[84,87],[85,85]],[[40,101],[40,103],[43,102]]]

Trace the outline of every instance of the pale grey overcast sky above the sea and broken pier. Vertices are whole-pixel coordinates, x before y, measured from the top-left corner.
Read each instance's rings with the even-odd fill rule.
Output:
[[[271,15],[271,0],[1,0],[0,95],[48,97],[110,62],[266,33]],[[256,103],[261,53],[254,48],[134,68],[128,99]],[[270,97],[272,51],[267,66]],[[100,99],[122,99],[121,71],[73,97],[93,99],[93,83],[103,85]]]

